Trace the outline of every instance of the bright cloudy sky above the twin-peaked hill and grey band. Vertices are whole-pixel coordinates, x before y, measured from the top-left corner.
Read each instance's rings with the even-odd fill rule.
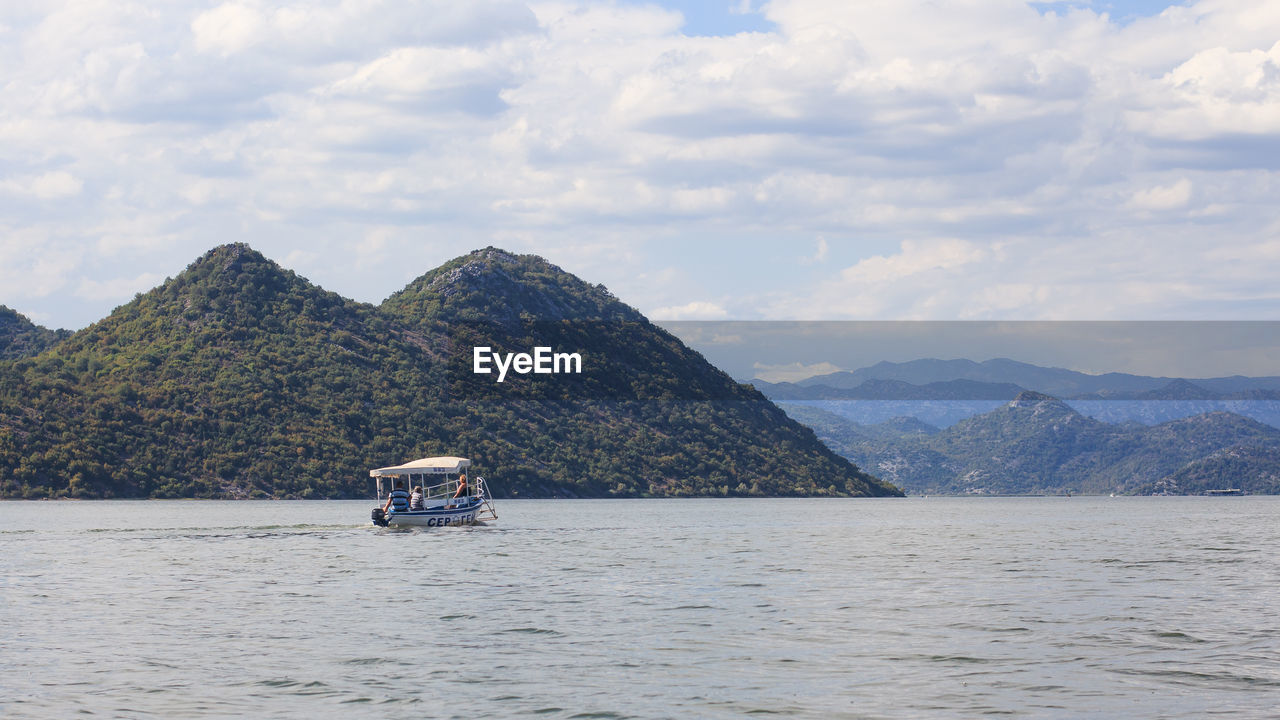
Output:
[[[1272,0],[0,9],[0,304],[244,241],[378,302],[475,247],[658,319],[1280,319]]]

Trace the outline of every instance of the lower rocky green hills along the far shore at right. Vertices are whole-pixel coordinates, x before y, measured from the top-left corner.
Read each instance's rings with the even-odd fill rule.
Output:
[[[1261,489],[1275,470],[1267,454],[1280,451],[1280,430],[1230,413],[1114,425],[1030,391],[934,433],[788,411],[855,464],[920,495],[1149,493],[1169,478],[1183,478],[1188,492],[1220,489],[1215,483],[1270,492]]]

